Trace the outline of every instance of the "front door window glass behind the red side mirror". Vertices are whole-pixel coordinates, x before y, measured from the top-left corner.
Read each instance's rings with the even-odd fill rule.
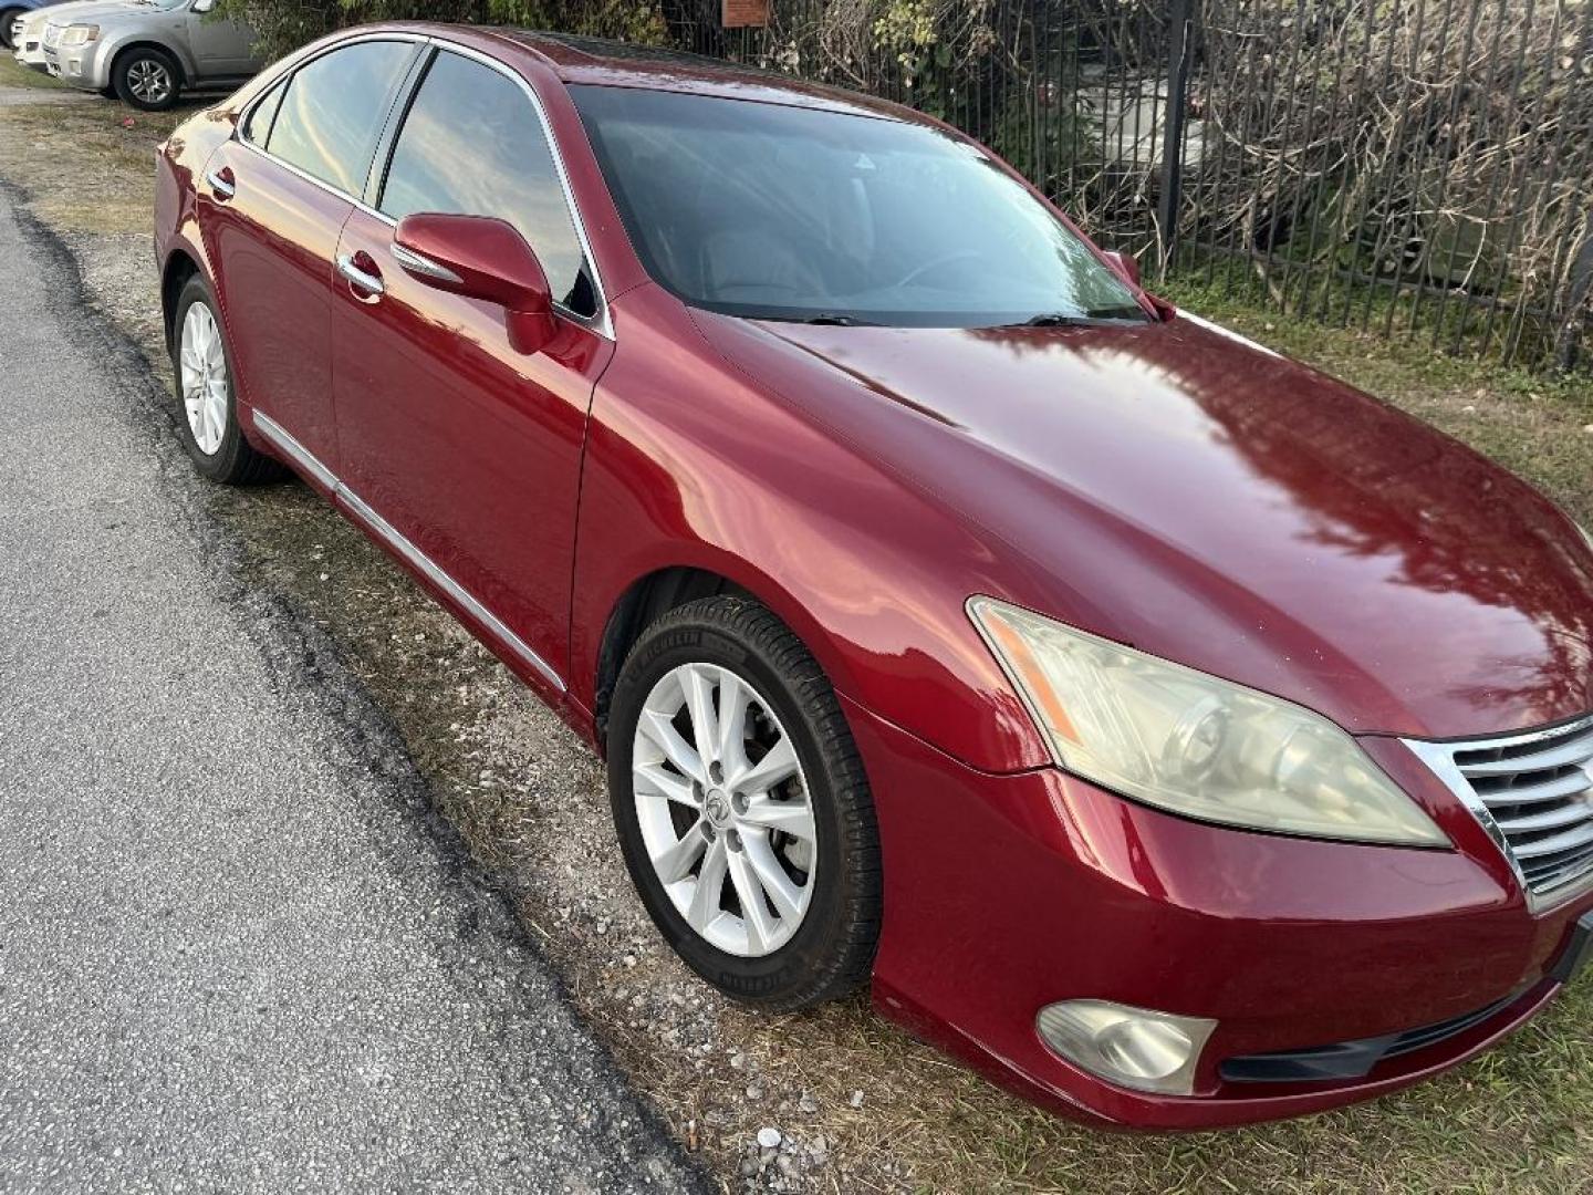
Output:
[[[497,70],[436,56],[398,131],[379,207],[395,220],[414,212],[507,220],[537,252],[553,296],[578,315],[597,312],[542,121]]]

